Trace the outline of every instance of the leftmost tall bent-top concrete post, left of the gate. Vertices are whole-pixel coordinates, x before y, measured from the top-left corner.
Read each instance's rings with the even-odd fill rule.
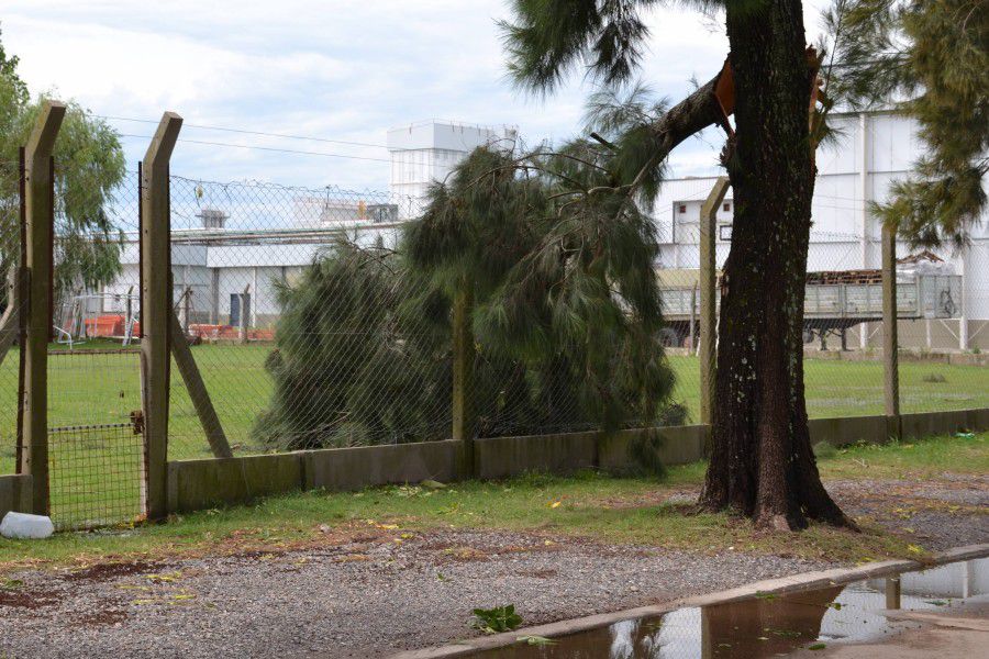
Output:
[[[27,338],[24,348],[24,450],[21,473],[33,477],[31,510],[48,514],[48,337],[52,334],[52,245],[55,189],[52,150],[65,105],[45,101],[25,150],[24,205],[29,277]]]

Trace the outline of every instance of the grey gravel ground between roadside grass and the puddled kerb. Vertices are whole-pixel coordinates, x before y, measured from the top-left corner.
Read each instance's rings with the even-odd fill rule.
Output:
[[[853,515],[929,549],[989,541],[987,485],[987,477],[829,483]],[[380,657],[476,634],[474,607],[514,603],[534,625],[823,567],[545,534],[396,537],[352,526],[289,552],[8,573],[0,656]]]

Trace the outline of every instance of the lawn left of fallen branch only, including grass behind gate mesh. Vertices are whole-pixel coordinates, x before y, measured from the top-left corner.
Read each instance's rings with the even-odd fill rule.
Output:
[[[63,346],[53,350],[59,349]],[[136,351],[100,354],[119,344],[90,342],[71,355],[48,358],[48,426],[127,423],[141,409],[140,358]],[[193,348],[231,444],[246,448],[256,414],[271,392],[264,370],[269,346]],[[0,473],[14,470],[18,354],[0,366]],[[173,365],[169,407],[169,457],[210,457],[199,418]],[[140,511],[141,450],[135,437],[120,428],[53,432],[49,443],[52,514],[59,526],[133,518]],[[248,453],[242,450],[241,453]]]

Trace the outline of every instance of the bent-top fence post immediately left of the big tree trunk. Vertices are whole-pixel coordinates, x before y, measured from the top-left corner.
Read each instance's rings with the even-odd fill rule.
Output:
[[[714,420],[714,370],[716,367],[718,343],[718,206],[727,193],[729,179],[720,177],[701,206],[700,216],[700,337],[698,361],[700,362],[701,417],[700,422],[711,425]]]

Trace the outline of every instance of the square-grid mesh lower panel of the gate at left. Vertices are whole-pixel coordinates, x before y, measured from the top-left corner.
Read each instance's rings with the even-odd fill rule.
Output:
[[[56,528],[126,524],[144,515],[140,422],[51,428],[48,469]]]

